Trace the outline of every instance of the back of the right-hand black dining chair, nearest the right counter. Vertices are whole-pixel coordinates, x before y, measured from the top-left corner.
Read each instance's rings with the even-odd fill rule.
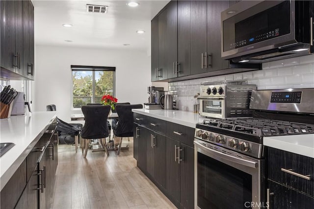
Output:
[[[142,109],[143,105],[117,105],[116,110],[119,116],[119,122],[113,131],[117,137],[133,136],[133,113],[132,109]]]

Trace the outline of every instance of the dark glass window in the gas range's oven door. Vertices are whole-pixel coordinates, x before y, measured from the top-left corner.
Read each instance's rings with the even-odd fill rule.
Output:
[[[197,153],[198,207],[248,209],[251,201],[252,176],[250,174]]]

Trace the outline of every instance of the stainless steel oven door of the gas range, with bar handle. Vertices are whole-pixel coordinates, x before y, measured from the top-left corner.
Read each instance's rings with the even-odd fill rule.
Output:
[[[202,140],[195,147],[195,208],[265,208],[264,161]],[[241,157],[241,158],[240,158]]]

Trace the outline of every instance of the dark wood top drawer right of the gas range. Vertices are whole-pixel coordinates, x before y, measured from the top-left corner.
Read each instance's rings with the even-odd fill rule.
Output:
[[[267,157],[268,179],[314,197],[313,158],[270,147]],[[310,180],[306,179],[307,177],[310,177]]]

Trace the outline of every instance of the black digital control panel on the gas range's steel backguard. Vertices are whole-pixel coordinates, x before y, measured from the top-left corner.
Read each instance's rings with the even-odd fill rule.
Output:
[[[301,103],[302,92],[272,92],[271,103]]]

